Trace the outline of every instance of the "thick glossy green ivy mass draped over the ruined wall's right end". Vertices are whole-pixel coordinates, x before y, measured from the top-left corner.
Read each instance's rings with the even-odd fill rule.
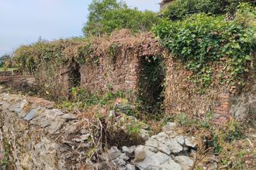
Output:
[[[255,19],[254,8],[247,5],[247,11],[237,13],[244,15],[227,22],[224,16],[209,16],[204,13],[195,14],[184,21],[171,22],[163,20],[154,28],[154,33],[161,39],[163,46],[182,60],[189,70],[203,75],[201,82],[208,86],[213,70],[209,63],[226,58],[227,70],[234,80],[247,70],[247,61],[255,47],[255,27],[244,20],[249,16]],[[249,15],[250,14],[250,15]],[[255,21],[255,20],[254,20]]]

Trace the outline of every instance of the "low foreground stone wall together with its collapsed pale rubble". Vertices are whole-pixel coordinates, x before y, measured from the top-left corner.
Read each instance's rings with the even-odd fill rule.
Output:
[[[5,93],[0,87],[0,168],[189,170],[195,160],[195,137],[177,134],[175,123],[151,138],[148,126],[140,129],[147,134],[145,145],[123,146],[122,151],[96,145],[98,154],[91,157],[96,151],[93,142],[102,136],[92,133],[89,122],[88,117],[54,109],[48,100]]]

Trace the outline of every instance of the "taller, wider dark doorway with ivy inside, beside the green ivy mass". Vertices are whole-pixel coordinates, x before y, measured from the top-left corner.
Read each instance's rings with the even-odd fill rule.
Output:
[[[140,58],[139,97],[142,109],[147,113],[162,111],[164,100],[164,69],[163,59],[159,56]]]

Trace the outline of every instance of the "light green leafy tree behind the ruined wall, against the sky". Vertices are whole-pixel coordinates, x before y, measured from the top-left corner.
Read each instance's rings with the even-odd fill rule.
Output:
[[[154,12],[140,12],[116,0],[94,0],[89,5],[89,12],[88,22],[83,28],[85,36],[110,34],[115,29],[148,31],[158,21]]]

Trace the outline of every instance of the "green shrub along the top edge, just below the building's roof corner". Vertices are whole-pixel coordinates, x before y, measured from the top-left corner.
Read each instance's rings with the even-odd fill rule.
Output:
[[[176,0],[163,12],[164,17],[177,20],[185,19],[186,15],[205,12],[214,15],[222,15],[227,12],[233,14],[244,0]]]

